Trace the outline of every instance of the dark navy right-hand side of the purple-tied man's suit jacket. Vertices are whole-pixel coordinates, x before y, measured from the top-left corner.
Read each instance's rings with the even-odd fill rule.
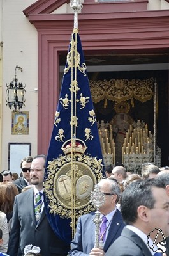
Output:
[[[108,228],[109,231],[107,234],[107,239],[104,244],[105,252],[107,251],[108,247],[112,244],[112,241],[114,241],[115,234],[119,230],[121,223],[122,223],[122,216],[121,216],[120,212],[117,210],[113,217],[112,223],[110,224],[110,228]]]

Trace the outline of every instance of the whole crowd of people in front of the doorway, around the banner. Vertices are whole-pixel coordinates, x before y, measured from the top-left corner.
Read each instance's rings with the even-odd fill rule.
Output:
[[[99,180],[105,203],[77,220],[70,244],[57,237],[44,207],[43,180],[47,156],[25,157],[21,175],[0,175],[0,256],[168,256],[169,168],[152,163],[142,173],[128,173],[122,163],[105,168]]]

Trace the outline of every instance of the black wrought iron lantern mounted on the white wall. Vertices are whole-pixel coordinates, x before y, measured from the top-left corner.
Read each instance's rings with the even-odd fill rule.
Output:
[[[26,90],[24,89],[26,85],[23,85],[22,82],[18,82],[17,79],[17,69],[22,72],[22,68],[16,66],[15,67],[15,78],[10,82],[10,84],[6,84],[6,106],[11,109],[12,107],[15,109],[15,112],[19,111],[22,106],[25,106],[24,102],[26,101],[24,98],[24,93]]]

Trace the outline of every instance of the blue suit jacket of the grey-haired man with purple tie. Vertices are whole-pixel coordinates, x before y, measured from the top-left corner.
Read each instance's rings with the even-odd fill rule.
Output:
[[[89,255],[91,249],[94,248],[95,243],[95,224],[93,221],[94,212],[91,214],[86,214],[78,219],[77,232],[75,238],[71,241],[71,251],[69,253],[72,255]],[[122,229],[124,228],[124,223],[122,221],[121,212],[117,210],[115,212],[114,218],[108,228],[107,239],[103,246],[104,252],[107,252],[108,247],[112,244],[117,237],[121,235]]]

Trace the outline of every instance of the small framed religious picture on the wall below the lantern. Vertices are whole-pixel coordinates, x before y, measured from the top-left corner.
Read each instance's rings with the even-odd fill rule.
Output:
[[[11,134],[29,134],[29,112],[12,112]]]

